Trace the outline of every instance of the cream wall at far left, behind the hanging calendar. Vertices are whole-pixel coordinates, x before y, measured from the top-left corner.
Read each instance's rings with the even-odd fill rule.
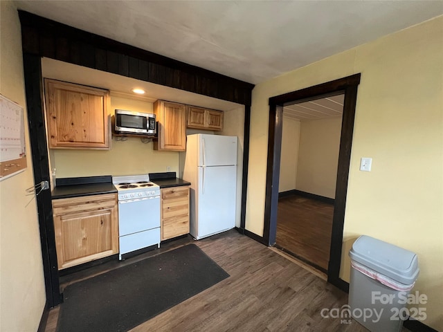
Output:
[[[21,33],[15,4],[0,1],[0,93],[26,111]],[[46,302],[25,114],[28,168],[0,182],[0,331],[37,331]]]

